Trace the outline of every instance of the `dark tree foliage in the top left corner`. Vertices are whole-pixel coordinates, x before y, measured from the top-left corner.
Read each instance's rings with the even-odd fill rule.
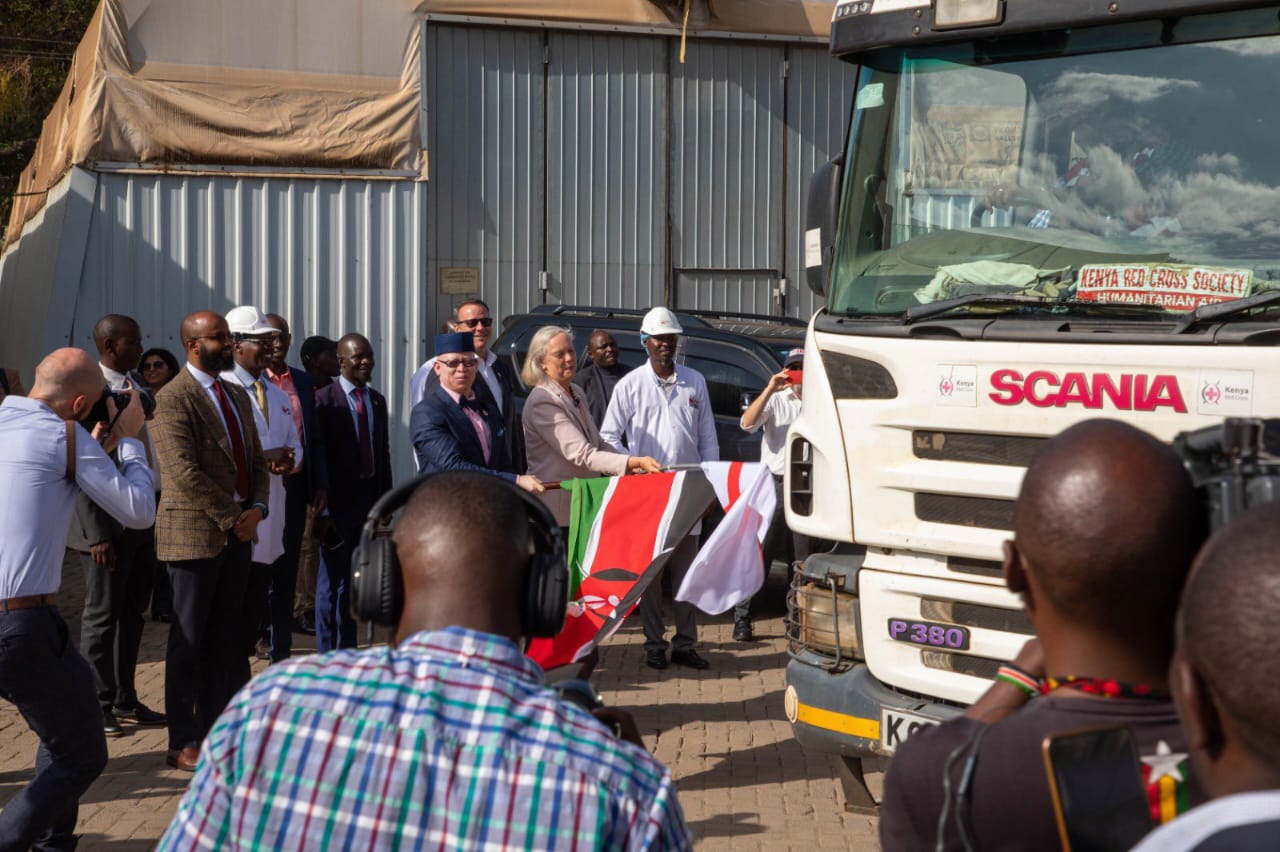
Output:
[[[0,0],[0,225],[97,0]]]

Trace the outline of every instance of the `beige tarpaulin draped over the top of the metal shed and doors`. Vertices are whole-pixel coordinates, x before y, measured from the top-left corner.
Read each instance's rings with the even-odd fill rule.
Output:
[[[690,35],[826,36],[823,0],[692,0]],[[663,8],[666,6],[666,12]],[[73,165],[421,173],[419,17],[678,33],[684,0],[102,0],[18,183],[8,243]]]

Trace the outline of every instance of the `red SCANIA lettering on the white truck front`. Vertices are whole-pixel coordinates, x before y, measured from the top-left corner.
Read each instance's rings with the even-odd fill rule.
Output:
[[[1110,375],[1105,372],[1066,372],[1033,370],[1023,376],[1019,370],[996,370],[991,374],[989,398],[997,406],[1037,408],[1114,408],[1116,411],[1156,411],[1171,408],[1187,413],[1178,376],[1143,372]]]

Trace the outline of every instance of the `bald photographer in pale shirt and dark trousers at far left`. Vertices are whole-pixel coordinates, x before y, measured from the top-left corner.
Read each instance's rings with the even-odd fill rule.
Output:
[[[102,395],[97,365],[68,348],[40,362],[29,395],[0,403],[0,696],[41,741],[36,777],[0,811],[3,849],[74,847],[79,797],[106,765],[93,675],[58,611],[67,532],[81,490],[134,530],[156,503],[137,394],[123,411],[106,400],[110,430],[81,425]]]

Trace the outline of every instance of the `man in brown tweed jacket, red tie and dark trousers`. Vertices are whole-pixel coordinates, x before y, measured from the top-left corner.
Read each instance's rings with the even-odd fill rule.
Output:
[[[248,394],[218,376],[232,363],[227,321],[182,321],[187,367],[156,395],[151,426],[164,491],[156,556],[168,564],[174,620],[165,655],[170,766],[193,771],[200,742],[243,686],[238,613],[270,482]]]

